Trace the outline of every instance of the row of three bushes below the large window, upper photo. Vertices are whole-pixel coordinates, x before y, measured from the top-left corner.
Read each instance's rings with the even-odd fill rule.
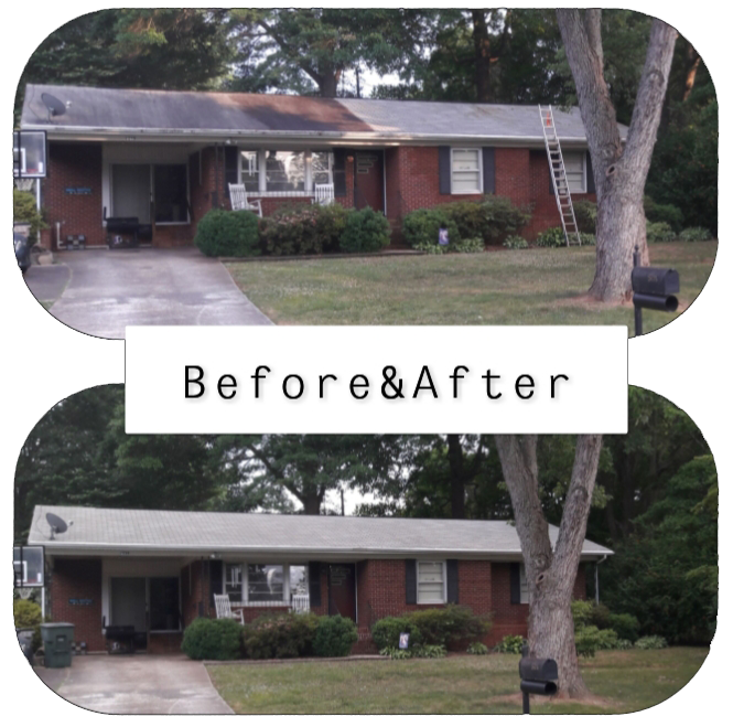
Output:
[[[212,210],[198,223],[194,244],[209,257],[374,253],[389,245],[389,233],[387,217],[369,207],[309,204],[262,220],[252,212]]]

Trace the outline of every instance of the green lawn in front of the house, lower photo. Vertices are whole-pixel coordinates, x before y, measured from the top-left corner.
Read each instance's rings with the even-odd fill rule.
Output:
[[[626,714],[665,702],[698,672],[707,649],[607,651],[582,660],[588,703],[532,699],[537,714]],[[520,714],[518,657],[209,666],[237,714]]]

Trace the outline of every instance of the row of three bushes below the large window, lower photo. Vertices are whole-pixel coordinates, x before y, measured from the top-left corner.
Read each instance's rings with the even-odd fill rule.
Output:
[[[341,616],[276,613],[246,626],[231,619],[196,619],[183,633],[182,651],[195,660],[348,656],[356,626]]]

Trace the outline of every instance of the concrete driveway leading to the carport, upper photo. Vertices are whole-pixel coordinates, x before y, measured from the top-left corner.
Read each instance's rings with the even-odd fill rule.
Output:
[[[51,314],[82,333],[120,340],[126,325],[272,323],[218,260],[195,248],[74,250],[57,260],[69,275]]]

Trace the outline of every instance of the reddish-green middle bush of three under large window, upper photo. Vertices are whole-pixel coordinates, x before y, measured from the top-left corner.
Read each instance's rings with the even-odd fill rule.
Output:
[[[349,211],[338,204],[281,207],[260,225],[265,249],[271,255],[321,255],[338,249]]]

